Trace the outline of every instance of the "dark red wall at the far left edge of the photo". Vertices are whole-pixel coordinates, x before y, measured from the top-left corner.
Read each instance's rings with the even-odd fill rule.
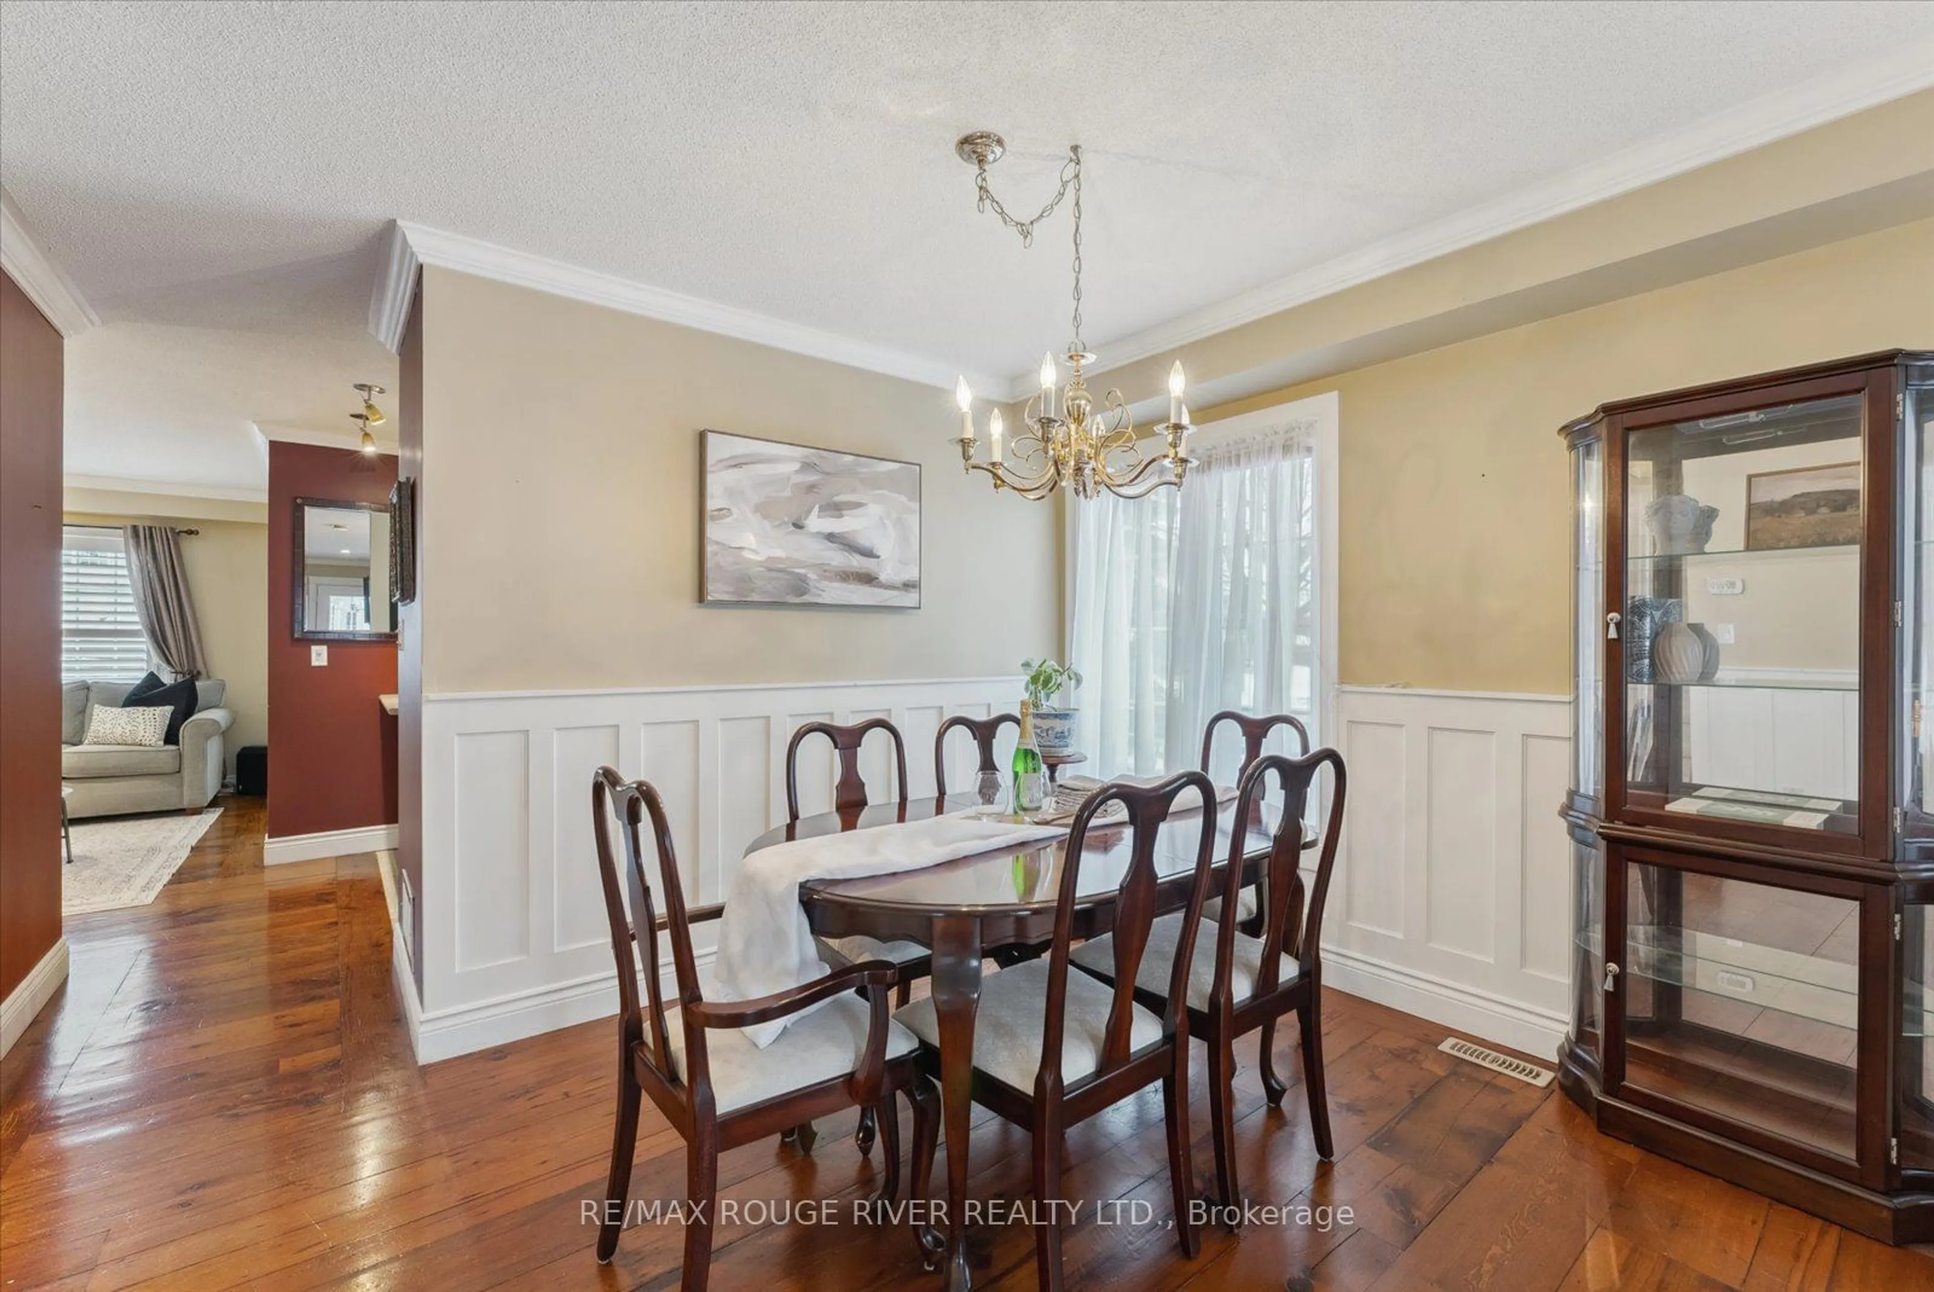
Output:
[[[0,273],[0,998],[60,940],[60,366]]]

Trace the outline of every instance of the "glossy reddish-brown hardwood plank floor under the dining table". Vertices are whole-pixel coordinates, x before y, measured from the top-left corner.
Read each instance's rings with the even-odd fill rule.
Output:
[[[580,1220],[609,1151],[611,1025],[418,1068],[375,859],[263,870],[261,830],[259,803],[226,801],[153,905],[68,923],[68,986],[0,1064],[0,1282],[675,1288],[677,1224],[627,1230],[601,1269]],[[1435,1023],[1334,992],[1325,1010],[1338,1157],[1315,1159],[1300,1085],[1282,1112],[1263,1104],[1249,1050],[1242,1178],[1253,1201],[1350,1207],[1352,1222],[1207,1228],[1184,1259],[1160,1097],[1145,1093],[1068,1137],[1064,1195],[1087,1201],[1066,1238],[1070,1286],[1934,1286],[1928,1253],[1605,1139],[1563,1097],[1439,1054]],[[1284,1075],[1298,1072],[1286,1033]],[[1203,1081],[1197,1062],[1199,1182]],[[849,1207],[876,1184],[851,1130],[851,1116],[822,1124],[810,1159],[777,1141],[729,1153],[721,1197]],[[1025,1203],[1025,1135],[982,1120],[973,1149],[975,1195]],[[683,1143],[648,1108],[632,1197],[681,1189]],[[1122,1224],[1099,1222],[1100,1199],[1128,1199]],[[1131,1201],[1147,1222],[1128,1222]],[[1035,1286],[1025,1222],[977,1236],[979,1286]],[[712,1286],[936,1282],[903,1228],[843,1211],[837,1226],[721,1224]]]

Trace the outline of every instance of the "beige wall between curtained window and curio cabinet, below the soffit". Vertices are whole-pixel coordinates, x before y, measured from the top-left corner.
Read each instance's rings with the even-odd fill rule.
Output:
[[[1934,348],[1934,220],[1199,410],[1338,391],[1340,681],[1570,690],[1568,476],[1594,406]]]

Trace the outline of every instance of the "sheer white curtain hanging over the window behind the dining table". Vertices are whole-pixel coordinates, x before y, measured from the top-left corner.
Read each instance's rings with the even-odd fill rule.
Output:
[[[1099,776],[1195,766],[1224,708],[1319,737],[1315,424],[1205,431],[1191,453],[1180,491],[1073,503],[1079,747]],[[1211,772],[1232,781],[1238,760],[1230,735]]]

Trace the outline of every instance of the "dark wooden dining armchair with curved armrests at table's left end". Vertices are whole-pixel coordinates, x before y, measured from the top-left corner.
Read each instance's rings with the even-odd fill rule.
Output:
[[[623,878],[611,847],[613,818],[621,826],[625,847]],[[650,818],[658,843],[658,896],[665,905],[661,915],[644,872],[638,837],[644,818]],[[592,778],[592,828],[619,994],[617,1126],[611,1135],[605,1211],[598,1228],[598,1261],[611,1261],[625,1228],[642,1095],[650,1095],[671,1128],[685,1137],[685,1201],[690,1205],[685,1222],[685,1292],[704,1292],[706,1286],[718,1164],[727,1149],[816,1116],[851,1106],[870,1108],[878,1112],[886,1139],[878,1199],[892,1201],[899,1193],[899,1116],[894,1101],[905,1093],[913,1104],[909,1197],[926,1197],[940,1137],[940,1099],[919,1068],[913,1033],[888,1017],[892,965],[847,965],[756,1000],[706,1000],[692,959],[690,926],[718,919],[723,907],[685,905],[671,826],[658,791],[646,781],[625,781],[611,768],[600,768]],[[659,984],[661,932],[671,940],[677,1000],[669,1004],[677,1010],[667,1008]],[[644,1002],[638,1000],[640,957]],[[864,1000],[855,990],[864,992]],[[789,1015],[799,1017],[766,1048],[754,1046],[739,1031]],[[926,1259],[919,1236],[917,1230],[917,1249]]]

